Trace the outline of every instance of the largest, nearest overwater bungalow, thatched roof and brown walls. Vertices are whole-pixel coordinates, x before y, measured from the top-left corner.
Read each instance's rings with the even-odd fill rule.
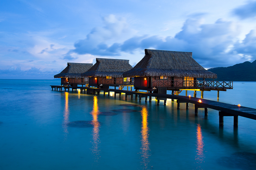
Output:
[[[192,58],[192,52],[148,49],[144,58],[123,76],[134,77],[136,90],[148,91],[200,89],[197,78],[217,78]]]

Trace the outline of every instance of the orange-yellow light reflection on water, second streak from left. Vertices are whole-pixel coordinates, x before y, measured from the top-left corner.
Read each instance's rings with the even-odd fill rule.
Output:
[[[100,144],[100,138],[99,138],[99,127],[100,124],[98,122],[98,114],[99,114],[99,107],[98,107],[98,97],[93,96],[93,109],[92,109],[92,122],[93,122],[93,129],[92,129],[92,154],[94,154],[94,162],[98,162],[99,160],[99,153],[100,150],[98,149],[99,144]]]

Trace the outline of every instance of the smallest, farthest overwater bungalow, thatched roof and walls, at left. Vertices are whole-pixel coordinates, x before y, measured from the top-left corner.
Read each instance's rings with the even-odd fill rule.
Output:
[[[88,84],[88,78],[82,78],[81,73],[92,67],[90,63],[68,63],[67,67],[54,78],[61,78],[61,85],[77,86],[77,84]]]

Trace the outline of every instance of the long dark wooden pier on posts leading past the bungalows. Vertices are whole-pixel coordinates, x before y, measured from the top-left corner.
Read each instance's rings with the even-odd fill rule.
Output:
[[[77,89],[87,91],[87,93],[97,94],[100,93],[100,91],[105,93],[108,93],[110,95],[110,92],[114,92],[116,97],[116,94],[119,94],[119,97],[121,97],[121,93],[125,93],[125,99],[127,99],[127,96],[131,96],[131,99],[133,99],[133,95],[135,95],[135,99],[139,96],[139,101],[141,102],[141,98],[145,97],[145,102],[147,102],[147,98],[149,96],[149,102],[151,101],[152,97],[157,98],[157,104],[159,105],[160,100],[164,100],[164,104],[166,104],[166,99],[176,99],[177,100],[177,109],[180,108],[180,103],[186,103],[186,109],[189,109],[189,103],[192,103],[195,105],[195,115],[198,114],[198,108],[204,108],[205,109],[205,116],[208,115],[208,108],[214,109],[219,111],[219,125],[223,126],[223,117],[224,116],[234,116],[234,126],[238,126],[238,116],[242,116],[249,119],[256,120],[256,109],[249,108],[249,107],[243,107],[238,105],[232,105],[228,103],[221,103],[218,101],[212,101],[197,97],[189,97],[189,96],[180,96],[180,95],[170,95],[170,94],[157,94],[157,93],[148,93],[148,92],[136,92],[136,91],[127,91],[127,90],[117,90],[117,89],[102,89],[102,88],[91,88],[91,87],[72,87],[72,86],[51,86],[52,90],[64,90],[66,91],[71,88],[72,91]]]

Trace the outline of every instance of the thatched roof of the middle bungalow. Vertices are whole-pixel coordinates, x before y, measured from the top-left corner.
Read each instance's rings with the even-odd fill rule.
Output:
[[[133,67],[127,59],[96,58],[96,63],[82,77],[112,76],[123,77],[123,72]]]

